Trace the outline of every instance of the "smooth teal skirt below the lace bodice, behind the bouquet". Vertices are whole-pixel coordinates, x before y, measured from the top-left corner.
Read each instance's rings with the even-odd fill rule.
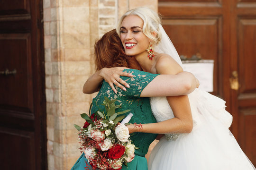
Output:
[[[86,167],[89,170],[92,170],[90,164],[87,162],[87,159],[84,156],[84,153],[79,157],[79,159],[75,162],[71,170],[84,170]],[[127,163],[127,166],[123,165],[122,170],[147,170],[147,161],[145,158],[145,154],[137,152],[135,150],[134,159]]]

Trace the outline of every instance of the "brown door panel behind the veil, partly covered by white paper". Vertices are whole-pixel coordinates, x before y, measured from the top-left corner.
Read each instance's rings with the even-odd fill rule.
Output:
[[[162,23],[179,55],[191,58],[200,54],[202,59],[214,60],[213,94],[222,96],[219,88],[222,75],[218,67],[219,62],[222,63],[221,17],[165,17]]]

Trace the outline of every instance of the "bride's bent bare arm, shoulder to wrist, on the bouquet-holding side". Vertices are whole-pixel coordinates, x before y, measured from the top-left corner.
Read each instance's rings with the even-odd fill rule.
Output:
[[[170,58],[162,57],[156,63],[156,71],[160,74],[177,74],[182,68]],[[190,133],[193,128],[193,120],[190,109],[190,103],[187,95],[166,97],[169,105],[174,112],[174,118],[158,123],[144,124],[143,128],[129,125],[130,133]]]

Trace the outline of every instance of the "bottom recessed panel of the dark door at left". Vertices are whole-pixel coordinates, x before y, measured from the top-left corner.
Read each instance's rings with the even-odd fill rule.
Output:
[[[0,127],[0,136],[2,170],[36,170],[33,132]]]

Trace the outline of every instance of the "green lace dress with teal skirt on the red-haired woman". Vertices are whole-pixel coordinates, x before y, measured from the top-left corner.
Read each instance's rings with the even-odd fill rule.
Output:
[[[104,100],[104,96],[107,96],[110,99],[117,99],[117,102],[122,105],[121,108],[117,111],[121,110],[131,110],[133,113],[133,117],[130,119],[129,123],[155,123],[155,117],[151,112],[150,102],[148,97],[139,98],[142,90],[150,83],[156,74],[151,74],[135,69],[126,69],[124,70],[133,75],[133,77],[122,76],[121,78],[125,80],[130,88],[127,88],[127,91],[123,91],[120,88],[117,88],[117,94],[113,92],[110,88],[110,85],[104,81],[100,92],[98,95],[92,100],[92,108],[91,113],[96,110],[104,110],[104,106],[100,105]],[[99,103],[99,104],[97,104]],[[118,103],[116,103],[118,104]],[[128,112],[129,113],[129,112]],[[128,115],[126,113],[126,115]],[[128,163],[128,166],[123,165],[122,170],[147,170],[147,161],[145,158],[145,154],[147,153],[149,145],[155,140],[156,134],[149,133],[134,133],[131,135],[131,139],[133,144],[136,145],[139,149],[135,150],[134,160]],[[86,164],[86,158],[84,153],[80,156],[80,158],[73,165],[71,170],[84,170]],[[87,167],[87,169],[90,169]]]

